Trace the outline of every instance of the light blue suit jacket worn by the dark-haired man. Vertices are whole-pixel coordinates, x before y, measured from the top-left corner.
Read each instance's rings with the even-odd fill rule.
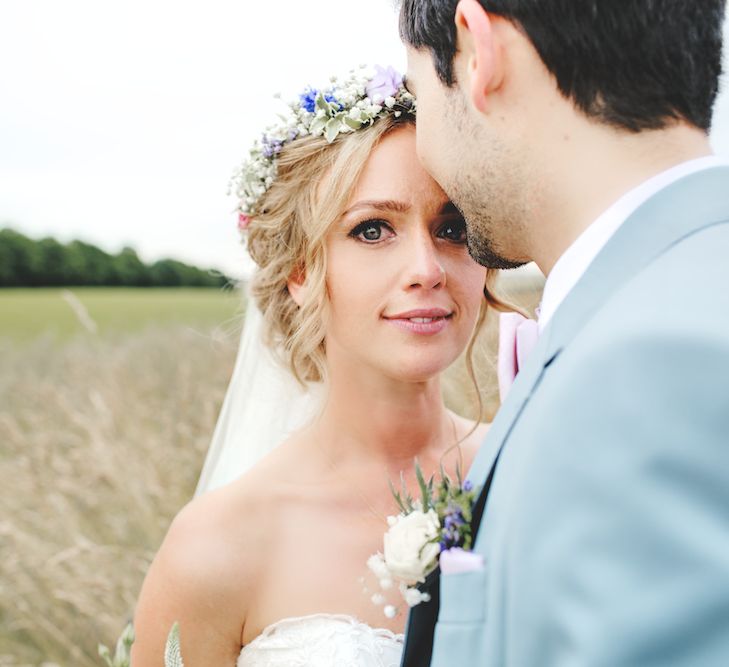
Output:
[[[556,312],[469,477],[434,667],[729,665],[729,168],[636,211]]]

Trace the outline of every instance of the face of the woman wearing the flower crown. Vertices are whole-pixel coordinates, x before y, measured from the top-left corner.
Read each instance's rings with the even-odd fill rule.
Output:
[[[463,218],[397,129],[370,155],[327,238],[329,363],[426,380],[464,350],[486,270],[471,259]]]

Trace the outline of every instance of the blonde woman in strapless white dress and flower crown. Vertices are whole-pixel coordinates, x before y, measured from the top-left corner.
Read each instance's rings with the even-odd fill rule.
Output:
[[[440,375],[480,326],[490,276],[418,162],[402,80],[363,76],[307,90],[238,174],[264,339],[321,404],[175,518],[134,667],[162,664],[175,622],[186,667],[399,664],[405,612],[372,603],[366,562],[397,513],[389,480],[415,490],[415,458],[426,475],[465,470],[484,436],[446,409]],[[285,421],[288,402],[277,410]]]

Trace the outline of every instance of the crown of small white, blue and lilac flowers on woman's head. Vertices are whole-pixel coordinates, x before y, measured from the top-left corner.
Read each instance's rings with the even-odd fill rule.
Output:
[[[403,77],[392,67],[365,66],[345,79],[332,77],[326,89],[307,88],[289,103],[279,122],[266,128],[253,143],[248,157],[233,173],[230,193],[238,197],[238,228],[248,227],[256,205],[276,178],[277,156],[283,147],[306,136],[324,136],[332,143],[340,134],[372,125],[387,114],[415,114],[415,98],[403,86]]]

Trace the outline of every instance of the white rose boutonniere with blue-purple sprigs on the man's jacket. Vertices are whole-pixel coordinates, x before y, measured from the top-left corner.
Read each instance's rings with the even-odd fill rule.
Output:
[[[435,476],[426,481],[416,461],[415,477],[420,487],[418,499],[408,493],[404,483],[401,491],[390,484],[400,513],[387,518],[383,550],[367,560],[380,589],[397,586],[408,607],[430,600],[418,584],[438,567],[443,553],[471,549],[471,508],[478,495],[471,482],[462,481],[460,469],[456,469],[455,480],[441,468],[438,482]],[[397,614],[398,608],[386,604],[383,593],[375,593],[372,602],[384,605],[388,618]]]

